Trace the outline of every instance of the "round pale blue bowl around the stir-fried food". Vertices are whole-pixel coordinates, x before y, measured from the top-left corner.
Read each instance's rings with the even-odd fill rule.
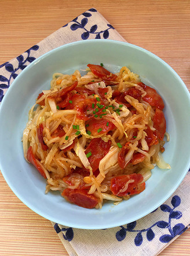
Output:
[[[144,83],[156,88],[165,101],[170,141],[163,157],[170,170],[155,168],[146,189],[119,205],[105,203],[102,209],[85,209],[70,204],[59,192],[45,195],[45,179],[23,157],[21,143],[28,111],[43,89],[50,87],[54,72],[71,74],[88,63],[112,72],[127,66],[140,74]],[[167,200],[189,169],[189,92],[167,63],[151,52],[125,42],[79,41],[47,52],[26,67],[14,80],[0,108],[0,169],[13,192],[29,208],[51,221],[80,229],[104,229],[136,221]]]

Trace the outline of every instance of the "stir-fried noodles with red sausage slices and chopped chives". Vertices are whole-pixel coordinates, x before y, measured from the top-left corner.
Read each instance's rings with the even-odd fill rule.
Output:
[[[145,190],[162,158],[166,120],[158,92],[124,66],[111,73],[87,65],[87,73],[54,73],[38,95],[23,133],[24,157],[71,203],[101,208]]]

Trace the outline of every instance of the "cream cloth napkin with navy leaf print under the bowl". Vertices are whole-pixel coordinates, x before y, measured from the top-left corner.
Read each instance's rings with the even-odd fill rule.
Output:
[[[125,41],[96,9],[89,9],[0,66],[0,103],[12,81],[36,58],[60,45],[88,39]],[[189,227],[189,183],[190,172],[165,204],[127,225],[104,230],[75,229],[54,222],[52,225],[70,256],[155,256]]]

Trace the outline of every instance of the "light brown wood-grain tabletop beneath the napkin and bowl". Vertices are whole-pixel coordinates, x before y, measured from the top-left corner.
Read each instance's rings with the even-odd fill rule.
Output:
[[[90,8],[96,8],[128,42],[169,63],[190,88],[188,0],[1,0],[0,65]],[[68,255],[50,221],[26,207],[1,173],[0,255]],[[190,255],[190,230],[160,255]]]

